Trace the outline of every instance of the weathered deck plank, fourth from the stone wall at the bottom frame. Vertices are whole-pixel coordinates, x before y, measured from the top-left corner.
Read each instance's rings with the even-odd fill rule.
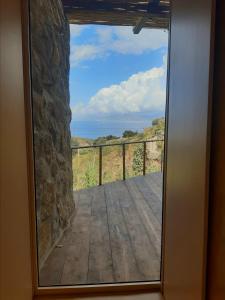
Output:
[[[105,185],[110,243],[115,282],[136,281],[142,278],[132,251],[129,233],[115,191],[117,183]]]

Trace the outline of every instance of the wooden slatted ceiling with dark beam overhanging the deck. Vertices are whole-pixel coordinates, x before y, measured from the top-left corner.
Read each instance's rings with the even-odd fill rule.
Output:
[[[71,24],[168,28],[171,0],[62,0]]]

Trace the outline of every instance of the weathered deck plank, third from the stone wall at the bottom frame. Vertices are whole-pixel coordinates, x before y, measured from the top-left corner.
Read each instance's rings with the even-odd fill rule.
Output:
[[[104,187],[92,193],[88,283],[114,282]]]

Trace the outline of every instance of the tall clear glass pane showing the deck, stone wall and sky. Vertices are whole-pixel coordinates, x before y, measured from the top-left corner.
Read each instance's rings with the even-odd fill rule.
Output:
[[[170,2],[152,2],[30,1],[40,286],[160,280]]]

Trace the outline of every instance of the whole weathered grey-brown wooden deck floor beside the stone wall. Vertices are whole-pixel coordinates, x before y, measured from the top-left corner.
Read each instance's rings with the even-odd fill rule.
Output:
[[[40,285],[160,278],[162,174],[74,193],[76,215],[40,272]]]

